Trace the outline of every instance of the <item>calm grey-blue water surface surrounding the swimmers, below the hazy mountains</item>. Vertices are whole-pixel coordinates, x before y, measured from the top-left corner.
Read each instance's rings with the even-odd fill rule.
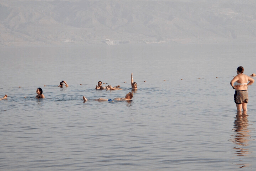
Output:
[[[0,48],[0,170],[254,171],[256,84],[241,116],[229,82],[238,66],[256,73],[255,56],[255,44]],[[132,101],[83,103],[132,92],[132,72]]]

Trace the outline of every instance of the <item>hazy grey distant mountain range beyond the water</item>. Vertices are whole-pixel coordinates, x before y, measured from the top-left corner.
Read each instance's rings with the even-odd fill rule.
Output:
[[[256,43],[256,2],[0,0],[0,46],[138,43]]]

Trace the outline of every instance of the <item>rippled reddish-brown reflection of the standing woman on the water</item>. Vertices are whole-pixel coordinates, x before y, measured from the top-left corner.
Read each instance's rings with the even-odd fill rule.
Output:
[[[250,150],[248,147],[249,142],[252,140],[250,135],[250,126],[248,124],[248,115],[246,112],[237,112],[235,121],[234,121],[234,139],[233,143],[236,144],[234,147],[235,149],[235,155],[239,157],[250,157],[250,154],[252,153],[252,150]],[[243,160],[240,160],[243,161]],[[251,164],[236,164],[236,165],[242,165],[239,166],[239,168],[248,167],[251,166]]]

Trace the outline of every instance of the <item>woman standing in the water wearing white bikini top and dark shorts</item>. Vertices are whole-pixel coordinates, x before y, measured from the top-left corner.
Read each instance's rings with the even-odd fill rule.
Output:
[[[248,103],[248,85],[254,83],[254,79],[243,74],[244,68],[242,66],[237,68],[237,76],[235,76],[231,81],[230,85],[235,89],[234,101],[236,103],[237,111],[247,111]],[[249,81],[249,83],[248,83]]]

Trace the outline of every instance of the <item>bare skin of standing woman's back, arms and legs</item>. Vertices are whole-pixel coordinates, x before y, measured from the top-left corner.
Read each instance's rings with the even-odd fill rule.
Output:
[[[248,84],[245,84],[245,85],[235,85],[234,86],[234,83],[235,82],[238,82],[238,83],[247,83],[249,81]],[[242,73],[239,73],[237,71],[237,76],[235,76],[231,81],[230,81],[230,85],[232,87],[234,87],[234,89],[236,91],[241,91],[241,90],[247,90],[248,88],[248,85],[252,85],[254,83],[254,79],[252,79],[251,77],[245,75],[245,74],[242,74]],[[247,111],[247,103],[242,103],[242,104],[236,104],[236,107],[237,107],[237,111],[242,111],[242,109],[244,111]]]

